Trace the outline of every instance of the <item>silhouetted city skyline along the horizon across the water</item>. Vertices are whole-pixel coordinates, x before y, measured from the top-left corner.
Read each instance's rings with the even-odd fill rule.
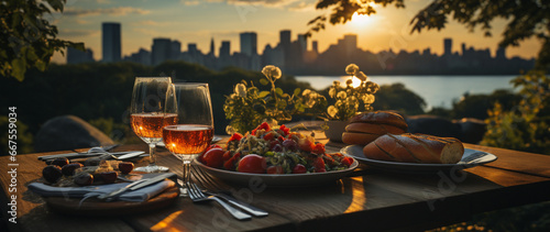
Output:
[[[520,57],[506,57],[506,48],[497,48],[492,55],[490,48],[477,49],[461,43],[461,51],[453,52],[453,38],[443,38],[443,54],[441,56],[431,52],[432,47],[420,51],[382,51],[372,53],[358,47],[358,34],[344,34],[338,38],[336,44],[331,44],[326,51],[319,52],[317,41],[308,41],[304,34],[297,34],[293,38],[290,30],[279,31],[279,41],[276,46],[266,44],[263,52],[258,53],[257,33],[241,32],[240,49],[230,53],[231,42],[221,41],[219,56],[216,56],[215,38],[210,40],[209,51],[200,51],[196,43],[188,43],[187,51],[182,48],[178,40],[167,37],[154,37],[151,49],[140,48],[131,55],[113,57],[110,51],[113,44],[120,44],[119,23],[102,23],[102,37],[112,37],[103,43],[102,51],[106,54],[102,63],[113,63],[117,60],[133,62],[142,65],[160,65],[166,60],[184,60],[191,64],[199,64],[211,69],[223,69],[229,66],[240,67],[249,70],[260,70],[266,65],[275,65],[285,73],[293,75],[321,75],[338,74],[342,66],[349,63],[360,64],[367,67],[372,74],[518,74],[526,69],[531,69],[535,60]],[[110,25],[110,26],[106,26]],[[114,25],[114,30],[112,26]],[[103,40],[106,41],[106,40]],[[309,49],[311,43],[311,49]],[[184,45],[185,47],[185,45]],[[120,49],[120,46],[117,47]],[[67,52],[67,63],[78,64],[95,62],[94,52],[79,52],[69,49]]]

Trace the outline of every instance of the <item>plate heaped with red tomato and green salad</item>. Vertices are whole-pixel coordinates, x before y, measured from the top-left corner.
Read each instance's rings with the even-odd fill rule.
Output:
[[[284,124],[262,123],[226,144],[209,146],[195,163],[206,173],[244,186],[296,187],[328,184],[351,173],[359,163],[341,153],[326,153],[310,135]]]

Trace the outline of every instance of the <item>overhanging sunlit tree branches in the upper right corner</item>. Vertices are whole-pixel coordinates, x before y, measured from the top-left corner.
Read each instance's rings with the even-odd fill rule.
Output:
[[[343,24],[350,21],[355,12],[366,15],[376,13],[371,5],[373,2],[383,7],[395,4],[397,8],[405,8],[404,0],[319,0],[316,9],[331,9],[329,22]],[[535,36],[542,42],[536,68],[550,67],[550,1],[432,0],[411,19],[410,33],[420,33],[422,29],[439,31],[444,29],[449,18],[464,24],[471,32],[481,26],[485,36],[491,36],[492,22],[495,19],[508,20],[498,46],[518,46],[519,42]],[[323,30],[327,20],[324,14],[311,20],[307,34]]]

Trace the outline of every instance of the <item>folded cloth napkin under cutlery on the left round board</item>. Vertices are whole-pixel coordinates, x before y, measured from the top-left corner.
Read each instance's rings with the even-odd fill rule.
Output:
[[[42,183],[32,183],[28,188],[42,197],[68,197],[68,198],[84,198],[97,197],[102,194],[114,191],[131,183],[118,183],[100,186],[85,186],[85,187],[53,187]],[[154,185],[150,185],[135,190],[128,190],[118,197],[121,201],[142,202],[151,199],[152,197],[161,194],[167,188],[174,187],[176,184],[172,180],[163,180]]]

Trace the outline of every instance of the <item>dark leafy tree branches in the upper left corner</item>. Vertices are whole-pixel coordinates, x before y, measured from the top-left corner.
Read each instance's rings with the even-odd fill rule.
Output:
[[[66,0],[1,0],[0,75],[22,81],[29,68],[43,71],[55,52],[72,46],[84,51],[82,43],[56,38],[57,26],[45,14],[63,12]]]

